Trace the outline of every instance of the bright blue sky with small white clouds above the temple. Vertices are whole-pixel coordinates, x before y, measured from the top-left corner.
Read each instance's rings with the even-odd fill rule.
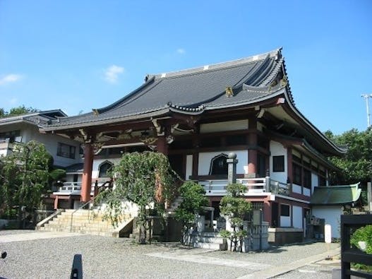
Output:
[[[304,116],[320,131],[364,131],[371,14],[369,0],[0,0],[0,107],[90,112],[148,73],[283,47]]]

